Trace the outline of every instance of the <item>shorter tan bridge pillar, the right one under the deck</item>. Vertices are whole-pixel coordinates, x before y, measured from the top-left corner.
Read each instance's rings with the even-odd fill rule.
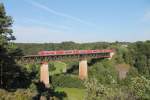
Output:
[[[87,60],[81,60],[79,62],[79,78],[81,80],[86,79],[88,76],[87,72]]]

